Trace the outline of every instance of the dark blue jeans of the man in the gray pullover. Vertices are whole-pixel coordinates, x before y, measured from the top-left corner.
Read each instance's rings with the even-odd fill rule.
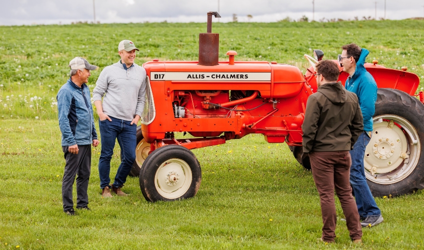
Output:
[[[110,186],[110,159],[113,155],[115,140],[120,146],[121,162],[115,175],[113,186],[120,187],[125,183],[126,176],[131,171],[135,160],[136,130],[137,124],[130,125],[131,121],[121,120],[109,116],[107,119],[98,120],[100,128],[101,153],[98,160],[98,174],[100,176],[100,188]]]

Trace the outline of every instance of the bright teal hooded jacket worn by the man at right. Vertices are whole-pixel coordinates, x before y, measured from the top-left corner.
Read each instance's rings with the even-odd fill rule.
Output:
[[[363,130],[372,131],[372,115],[375,111],[375,101],[377,100],[377,83],[375,83],[372,75],[366,71],[365,57],[369,51],[362,48],[356,68],[353,75],[347,77],[344,84],[348,91],[355,93],[358,97],[360,110],[363,116]]]

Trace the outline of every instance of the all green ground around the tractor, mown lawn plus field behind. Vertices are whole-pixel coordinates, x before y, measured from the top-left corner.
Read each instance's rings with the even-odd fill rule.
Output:
[[[424,80],[424,20],[213,23],[219,57],[290,63],[302,72],[303,54],[322,49],[335,59],[355,42],[391,68],[407,66]],[[310,171],[286,144],[248,135],[193,150],[202,168],[195,197],[145,201],[138,178],[128,177],[128,197],[100,196],[98,154],[92,150],[88,187],[91,211],[62,212],[60,146],[55,96],[68,78],[67,64],[82,56],[91,90],[101,69],[118,61],[117,44],[131,39],[136,62],[153,58],[197,60],[205,23],[130,23],[0,26],[0,249],[422,249],[424,192],[376,198],[384,222],[364,228],[363,245],[350,243],[337,220],[336,243],[321,235],[319,197]],[[112,158],[111,178],[119,164]],[[74,193],[76,199],[76,193]],[[340,204],[337,216],[342,218]]]

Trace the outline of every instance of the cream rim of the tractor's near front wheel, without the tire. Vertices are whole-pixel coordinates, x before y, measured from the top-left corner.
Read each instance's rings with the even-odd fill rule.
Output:
[[[187,192],[192,180],[191,168],[182,159],[166,160],[157,168],[154,185],[165,198],[175,199]]]

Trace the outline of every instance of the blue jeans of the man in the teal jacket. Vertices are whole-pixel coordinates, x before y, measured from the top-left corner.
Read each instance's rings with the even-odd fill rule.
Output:
[[[352,158],[352,165],[350,167],[350,184],[352,185],[356,206],[361,218],[379,216],[381,214],[381,211],[371,194],[371,190],[366,183],[365,170],[363,166],[365,147],[370,139],[371,138],[369,138],[366,132],[362,131],[353,145],[353,149],[350,150],[350,156]]]

